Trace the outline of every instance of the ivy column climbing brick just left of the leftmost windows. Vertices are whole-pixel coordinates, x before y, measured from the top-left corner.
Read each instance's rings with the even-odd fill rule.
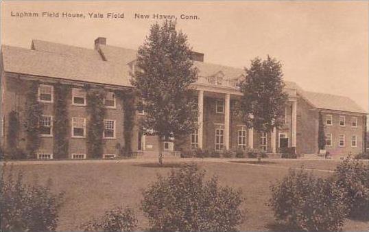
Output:
[[[38,121],[43,114],[43,104],[38,102],[38,82],[31,82],[25,101],[26,152],[29,158],[35,158],[40,147],[40,126]]]

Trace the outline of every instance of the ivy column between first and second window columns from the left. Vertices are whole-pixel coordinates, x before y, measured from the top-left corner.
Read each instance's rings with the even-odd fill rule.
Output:
[[[69,113],[67,99],[69,86],[56,83],[53,86],[53,157],[54,159],[66,159],[69,154]]]

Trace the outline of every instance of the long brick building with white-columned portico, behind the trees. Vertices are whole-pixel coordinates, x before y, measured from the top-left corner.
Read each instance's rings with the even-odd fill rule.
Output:
[[[25,121],[26,92],[32,83],[38,83],[38,101],[43,104],[40,124],[41,143],[38,159],[53,158],[53,84],[68,84],[67,114],[70,119],[69,158],[86,159],[86,91],[83,86],[104,86],[104,156],[119,155],[119,146],[126,146],[123,100],[115,96],[116,90],[132,89],[130,72],[134,71],[136,51],[106,45],[106,38],[95,40],[95,49],[73,47],[42,40],[33,40],[31,49],[1,47],[1,144],[6,148],[10,112],[19,113]],[[283,148],[296,148],[299,154],[318,153],[318,126],[321,115],[326,134],[326,150],[331,154],[359,153],[365,147],[366,111],[348,97],[304,91],[294,82],[285,82],[288,102],[285,106],[285,126],[270,133],[246,128],[233,114],[235,101],[241,95],[237,82],[244,78],[243,69],[213,65],[204,62],[204,54],[193,54],[199,69],[198,90],[200,126],[181,142],[176,150],[202,148],[224,150],[259,148],[278,153]],[[143,156],[156,155],[158,148],[154,136],[145,136],[136,122],[145,117],[140,100],[135,100],[134,127],[130,144],[132,150]],[[25,147],[25,130],[19,131],[20,148]],[[174,145],[164,144],[171,152]]]

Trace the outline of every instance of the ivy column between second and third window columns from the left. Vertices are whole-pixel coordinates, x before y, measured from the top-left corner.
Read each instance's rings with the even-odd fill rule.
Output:
[[[104,153],[105,97],[106,91],[103,88],[86,85],[86,110],[88,114],[86,145],[88,158],[102,158]]]

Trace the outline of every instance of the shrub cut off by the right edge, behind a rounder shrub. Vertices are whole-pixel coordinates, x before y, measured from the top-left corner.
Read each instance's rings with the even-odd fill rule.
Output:
[[[344,200],[350,217],[368,219],[369,165],[348,156],[337,165],[333,179],[344,191]]]

